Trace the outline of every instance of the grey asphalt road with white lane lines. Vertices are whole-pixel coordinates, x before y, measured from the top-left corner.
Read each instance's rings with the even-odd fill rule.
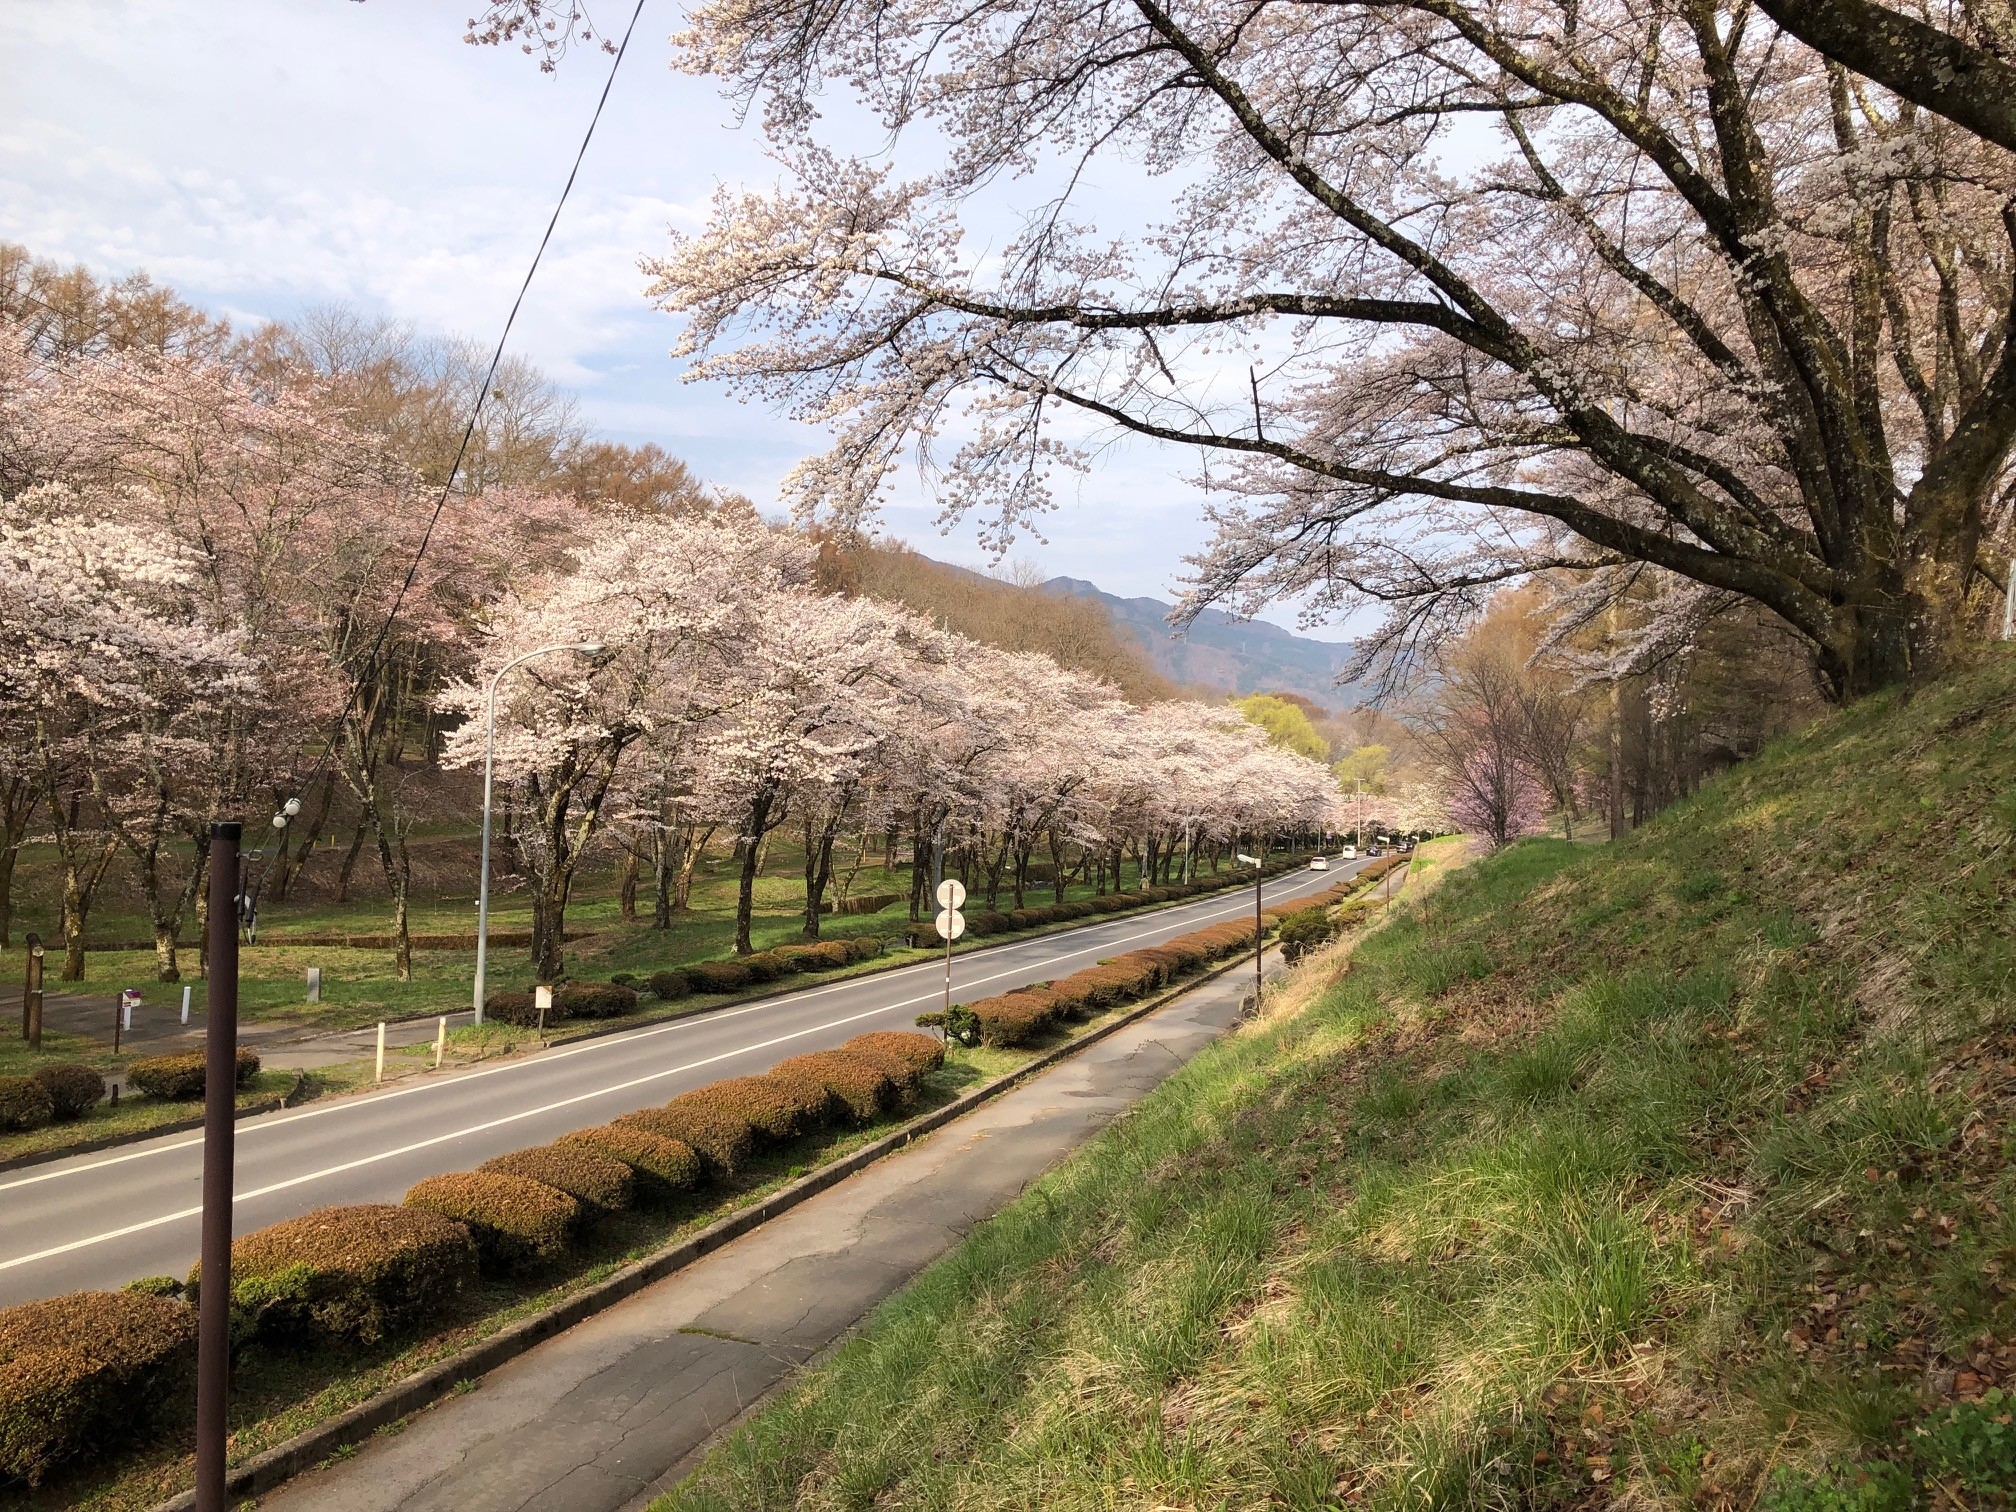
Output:
[[[1266,901],[1320,891],[1363,865],[1292,871],[1266,885]],[[958,956],[954,1000],[1046,982],[1250,911],[1252,893],[1232,891]],[[244,1119],[236,1230],[333,1204],[397,1202],[421,1177],[466,1171],[853,1034],[909,1028],[939,1002],[943,970],[925,962]],[[194,1133],[0,1175],[0,1304],[181,1276],[196,1262],[200,1212],[202,1137]]]

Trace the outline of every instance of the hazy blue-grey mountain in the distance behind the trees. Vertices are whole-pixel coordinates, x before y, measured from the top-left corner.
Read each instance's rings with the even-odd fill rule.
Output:
[[[1232,694],[1302,694],[1325,708],[1359,702],[1355,683],[1337,677],[1357,647],[1349,641],[1312,641],[1258,619],[1234,619],[1206,609],[1187,635],[1169,633],[1175,605],[1161,599],[1121,599],[1077,577],[1052,577],[1046,593],[1097,599],[1113,623],[1131,635],[1173,683],[1220,687]]]

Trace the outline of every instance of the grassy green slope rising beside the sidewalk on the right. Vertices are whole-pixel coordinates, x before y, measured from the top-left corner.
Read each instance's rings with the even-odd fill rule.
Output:
[[[2006,1506],[2012,778],[1996,655],[1456,873],[661,1508]]]

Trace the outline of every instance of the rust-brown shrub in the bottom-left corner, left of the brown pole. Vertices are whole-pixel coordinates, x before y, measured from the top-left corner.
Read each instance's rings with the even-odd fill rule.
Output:
[[[139,1292],[71,1292],[0,1310],[0,1482],[103,1458],[185,1387],[196,1310]]]

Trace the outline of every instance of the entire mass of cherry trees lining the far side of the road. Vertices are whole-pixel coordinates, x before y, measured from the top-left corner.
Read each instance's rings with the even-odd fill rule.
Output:
[[[415,770],[480,764],[492,671],[583,639],[605,653],[512,671],[498,718],[546,974],[611,839],[653,857],[663,921],[706,839],[736,837],[748,950],[762,839],[784,825],[816,933],[843,837],[929,835],[1020,895],[1036,847],[1052,873],[1068,849],[1117,875],[1123,847],[1165,861],[1329,818],[1329,772],[1236,712],[1133,706],[825,593],[812,542],[734,500],[494,484],[437,510],[397,433],[345,397],[312,365],[79,351],[0,321],[0,865],[52,839],[71,978],[121,857],[159,976],[179,976],[210,823],[296,794],[306,837],[339,794],[369,827],[405,974]],[[268,885],[298,859],[282,849]]]

